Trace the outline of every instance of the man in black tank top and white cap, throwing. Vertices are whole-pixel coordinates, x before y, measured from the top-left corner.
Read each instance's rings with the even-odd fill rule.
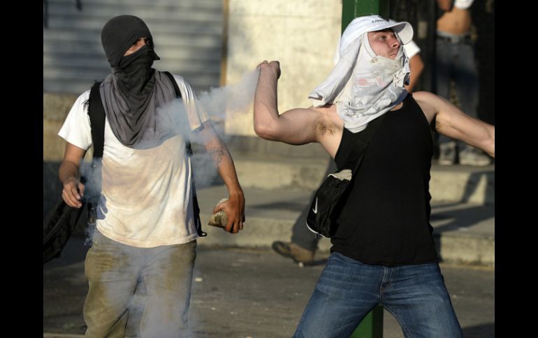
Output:
[[[277,110],[278,61],[263,61],[254,100],[259,137],[321,144],[337,167],[357,133],[386,114],[340,214],[331,255],[294,337],[349,337],[382,305],[406,337],[462,337],[439,270],[430,226],[429,125],[495,157],[495,128],[428,92],[408,95],[402,44],[407,22],[358,17],[342,34],[341,59],[309,97],[314,107]]]

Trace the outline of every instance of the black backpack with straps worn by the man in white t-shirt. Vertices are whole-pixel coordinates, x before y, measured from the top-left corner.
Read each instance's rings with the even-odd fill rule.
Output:
[[[181,98],[180,88],[177,86],[177,82],[170,72],[163,72],[168,76],[170,82],[172,82],[177,98]],[[94,144],[94,157],[92,159],[92,170],[101,170],[101,158],[103,158],[103,148],[105,144],[105,109],[103,108],[103,102],[101,101],[101,93],[99,93],[99,86],[101,82],[96,82],[89,92],[88,100],[88,115],[90,125],[92,126],[92,142]],[[187,140],[187,155],[192,156],[192,148],[190,142]],[[80,179],[82,183],[85,183],[85,178]],[[191,189],[193,192],[193,207],[194,207],[194,222],[196,223],[196,229],[198,236],[205,237],[207,233],[202,231],[202,223],[200,221],[200,207],[198,206],[198,199],[196,197],[196,187],[194,186],[194,176],[191,178]],[[97,195],[99,197],[99,194]],[[71,234],[75,230],[75,226],[80,218],[82,210],[85,206],[88,209],[88,218],[90,222],[94,220],[95,208],[97,205],[97,199],[87,200],[82,199],[82,206],[80,208],[73,208],[68,206],[64,199],[60,199],[58,203],[52,208],[50,213],[43,220],[43,264],[47,263],[51,259],[57,258],[61,254],[61,250],[67,243],[67,240],[71,237]]]

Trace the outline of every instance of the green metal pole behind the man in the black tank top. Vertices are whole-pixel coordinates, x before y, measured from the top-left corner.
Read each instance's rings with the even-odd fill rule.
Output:
[[[342,33],[356,17],[378,14],[388,19],[388,9],[388,0],[342,0]],[[349,338],[383,338],[383,308],[367,314]]]

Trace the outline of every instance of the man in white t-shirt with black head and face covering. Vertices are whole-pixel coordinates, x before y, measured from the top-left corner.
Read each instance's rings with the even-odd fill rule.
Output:
[[[131,298],[144,282],[141,337],[183,337],[198,238],[189,137],[212,154],[228,187],[228,201],[213,210],[228,216],[226,231],[243,229],[245,198],[231,155],[189,84],[173,76],[181,93],[176,100],[170,78],[152,68],[159,56],[146,24],[132,15],[113,17],[101,43],[112,70],[99,87],[106,121],[96,231],[85,261],[86,336],[123,337]],[[79,96],[59,131],[67,141],[62,197],[75,208],[85,194],[80,163],[92,146],[88,99],[89,91]]]

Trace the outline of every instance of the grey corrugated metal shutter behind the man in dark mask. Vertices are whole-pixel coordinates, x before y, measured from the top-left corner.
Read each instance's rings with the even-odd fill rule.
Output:
[[[154,67],[182,75],[196,91],[218,86],[223,0],[48,0],[43,92],[81,93],[110,72],[101,29],[116,15],[142,18],[161,57]]]

